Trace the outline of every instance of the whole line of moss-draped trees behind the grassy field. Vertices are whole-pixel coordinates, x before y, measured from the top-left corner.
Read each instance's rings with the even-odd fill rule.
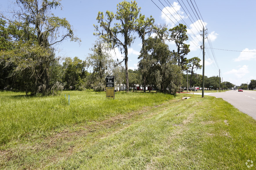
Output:
[[[0,90],[31,95],[56,94],[62,89],[100,91],[108,75],[116,77],[117,86],[125,84],[127,92],[139,84],[144,91],[150,86],[176,94],[186,87],[188,77],[190,90],[201,86],[201,77],[195,74],[202,67],[201,60],[186,58],[190,52],[185,44],[186,25],[168,29],[167,25],[155,24],[152,16],[142,15],[136,1],[122,1],[116,13],[98,12],[99,25],[94,25],[98,40],[82,61],[55,56],[56,45],[63,40],[81,41],[65,18],[52,13],[58,7],[60,0],[17,0],[12,16],[0,14]],[[133,71],[128,69],[128,48],[136,36],[142,48],[138,70]],[[170,50],[167,41],[173,41],[177,48]],[[121,51],[123,60],[114,61],[110,50]],[[210,85],[215,87],[214,77],[205,80],[205,87]]]

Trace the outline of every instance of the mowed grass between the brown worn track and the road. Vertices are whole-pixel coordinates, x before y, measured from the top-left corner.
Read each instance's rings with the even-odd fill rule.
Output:
[[[176,100],[150,112],[48,168],[247,169],[256,159],[255,120],[222,99]]]

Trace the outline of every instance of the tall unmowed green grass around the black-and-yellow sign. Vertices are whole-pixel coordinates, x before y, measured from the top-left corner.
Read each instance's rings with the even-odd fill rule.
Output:
[[[115,99],[108,99],[106,93],[90,90],[63,91],[61,96],[47,97],[0,92],[0,144],[42,136],[46,132],[72,124],[100,121],[146,106],[159,105],[172,97],[161,93],[118,92]]]

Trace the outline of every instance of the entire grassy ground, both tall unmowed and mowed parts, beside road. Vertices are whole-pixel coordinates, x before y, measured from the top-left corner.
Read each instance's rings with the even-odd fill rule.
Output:
[[[19,123],[1,144],[0,169],[255,169],[256,121],[220,98],[192,96],[3,92],[1,119]]]

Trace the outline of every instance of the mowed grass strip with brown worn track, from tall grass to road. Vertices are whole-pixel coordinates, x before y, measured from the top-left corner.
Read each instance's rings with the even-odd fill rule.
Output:
[[[222,99],[181,100],[184,96],[191,95],[52,136],[10,142],[0,152],[0,167],[248,169],[245,163],[256,160],[256,121]]]

